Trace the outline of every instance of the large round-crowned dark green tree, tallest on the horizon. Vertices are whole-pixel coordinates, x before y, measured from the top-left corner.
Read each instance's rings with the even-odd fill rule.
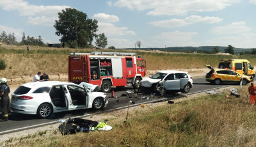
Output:
[[[58,13],[59,20],[55,20],[55,34],[61,36],[63,44],[77,43],[79,47],[92,45],[97,31],[97,20],[88,19],[86,13],[74,8],[66,8]]]

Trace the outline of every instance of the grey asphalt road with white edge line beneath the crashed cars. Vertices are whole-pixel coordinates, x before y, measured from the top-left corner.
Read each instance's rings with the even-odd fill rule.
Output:
[[[119,97],[119,102],[116,102],[115,98],[109,98],[109,104],[102,111],[94,111],[93,109],[84,109],[78,111],[69,111],[69,112],[58,112],[52,114],[50,118],[41,119],[36,115],[28,115],[28,114],[19,114],[16,112],[12,112],[9,121],[0,122],[0,134],[8,134],[10,132],[17,132],[19,130],[25,130],[28,128],[40,127],[43,125],[50,125],[52,123],[58,122],[58,120],[65,120],[68,118],[82,117],[82,116],[90,116],[93,114],[101,113],[101,112],[111,112],[116,109],[124,109],[128,106],[129,101],[132,100],[135,104],[147,104],[154,102],[161,102],[166,98],[175,99],[179,97],[186,97],[186,95],[193,93],[200,93],[202,91],[209,91],[211,89],[218,89],[227,86],[232,86],[230,84],[221,84],[211,85],[209,82],[205,81],[205,78],[193,79],[193,88],[189,91],[189,93],[167,93],[165,97],[160,97],[157,95],[133,95],[131,98],[129,97],[120,97],[122,93],[125,93],[127,90],[132,91],[132,87],[125,87],[124,89],[113,89],[115,91],[115,96]],[[142,94],[142,93],[141,93]],[[107,97],[110,97],[111,93],[108,93]],[[149,100],[141,100],[141,97],[149,97]],[[97,121],[97,120],[95,120]]]

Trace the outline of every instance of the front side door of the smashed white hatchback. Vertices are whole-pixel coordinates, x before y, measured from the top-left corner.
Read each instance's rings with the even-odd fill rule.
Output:
[[[167,75],[164,78],[164,87],[166,90],[179,90],[180,89],[180,80],[175,79],[175,74]]]

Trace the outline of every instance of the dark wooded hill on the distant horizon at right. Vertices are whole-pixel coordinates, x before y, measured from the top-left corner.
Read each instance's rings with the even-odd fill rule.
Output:
[[[186,52],[190,50],[191,52],[196,51],[196,52],[212,52],[216,46],[200,46],[200,47],[166,47],[166,48],[140,48],[140,50],[167,50],[170,52]],[[134,48],[126,48],[126,49],[132,49]],[[225,52],[225,49],[227,47],[220,47],[221,52]],[[138,48],[136,48],[138,50]],[[244,51],[251,51],[251,49],[245,49],[245,48],[236,48],[235,47],[235,52],[244,52]]]

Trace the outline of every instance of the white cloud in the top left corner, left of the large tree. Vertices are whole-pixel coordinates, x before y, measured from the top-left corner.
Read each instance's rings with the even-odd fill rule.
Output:
[[[58,19],[58,12],[61,12],[65,8],[70,8],[69,6],[36,6],[23,0],[0,1],[0,7],[6,11],[17,11],[20,16],[29,16],[28,23],[42,26],[53,26],[55,19],[49,21],[49,17],[51,19]],[[49,24],[50,22],[51,24]]]

